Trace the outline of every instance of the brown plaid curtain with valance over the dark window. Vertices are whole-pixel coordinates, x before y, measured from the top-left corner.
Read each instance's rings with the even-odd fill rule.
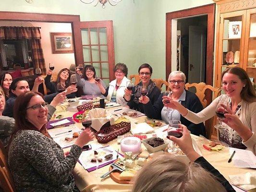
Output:
[[[35,67],[46,74],[44,53],[41,45],[41,33],[39,27],[15,27],[1,26],[0,39],[30,39],[32,52],[35,60]]]

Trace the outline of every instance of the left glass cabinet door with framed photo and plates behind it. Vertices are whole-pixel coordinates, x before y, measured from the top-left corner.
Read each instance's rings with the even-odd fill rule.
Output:
[[[243,67],[246,11],[220,14],[218,74],[227,67]],[[217,86],[221,85],[218,76]]]

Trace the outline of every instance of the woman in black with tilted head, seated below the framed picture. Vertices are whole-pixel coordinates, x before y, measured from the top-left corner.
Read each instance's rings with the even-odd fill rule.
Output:
[[[45,86],[50,90],[50,92],[52,94],[58,93],[57,84],[61,83],[63,84],[65,89],[71,92],[71,94],[67,95],[67,98],[74,98],[76,96],[75,93],[77,91],[77,88],[76,88],[76,85],[72,85],[70,83],[70,76],[71,76],[70,70],[67,68],[61,69],[61,71],[57,75],[56,82],[50,81],[52,74],[53,74],[53,71],[49,69],[47,72],[47,76],[45,77]]]

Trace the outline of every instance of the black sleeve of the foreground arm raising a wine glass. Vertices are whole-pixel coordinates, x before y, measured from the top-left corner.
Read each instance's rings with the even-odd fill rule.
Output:
[[[225,187],[227,192],[235,192],[235,190],[232,188],[231,184],[229,183],[228,180],[226,180],[223,175],[219,173],[219,171],[214,168],[204,157],[200,156],[195,160],[195,163],[198,163],[199,165],[202,166],[202,168],[206,169],[209,171],[211,174],[213,174],[219,182]]]

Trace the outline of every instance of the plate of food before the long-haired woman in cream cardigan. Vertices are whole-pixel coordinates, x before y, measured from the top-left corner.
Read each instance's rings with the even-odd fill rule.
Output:
[[[217,139],[211,139],[211,140],[205,139],[201,142],[201,145],[203,146],[204,150],[212,151],[212,152],[221,152],[229,149],[228,144],[221,142]]]

